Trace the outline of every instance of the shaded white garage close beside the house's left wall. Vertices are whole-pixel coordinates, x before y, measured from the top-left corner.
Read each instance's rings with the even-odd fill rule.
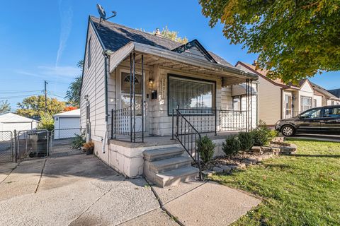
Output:
[[[72,138],[80,134],[80,109],[53,115],[55,139]]]

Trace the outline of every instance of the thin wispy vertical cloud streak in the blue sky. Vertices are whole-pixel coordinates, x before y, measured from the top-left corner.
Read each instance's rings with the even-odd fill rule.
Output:
[[[57,67],[62,57],[62,52],[64,52],[64,48],[66,47],[67,39],[69,38],[69,33],[72,28],[72,16],[73,11],[70,5],[70,1],[59,1],[59,13],[60,13],[60,40],[59,40],[59,48],[57,51],[57,59],[55,60],[55,66]]]

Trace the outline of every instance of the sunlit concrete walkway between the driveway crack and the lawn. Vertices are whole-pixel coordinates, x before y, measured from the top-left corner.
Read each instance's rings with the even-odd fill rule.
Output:
[[[153,189],[164,209],[183,225],[229,225],[261,202],[215,182]]]

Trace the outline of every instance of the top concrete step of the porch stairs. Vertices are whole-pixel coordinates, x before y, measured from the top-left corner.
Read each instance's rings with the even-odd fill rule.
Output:
[[[147,161],[162,160],[164,158],[176,157],[184,153],[183,148],[159,148],[154,150],[145,150],[143,152],[144,159]]]

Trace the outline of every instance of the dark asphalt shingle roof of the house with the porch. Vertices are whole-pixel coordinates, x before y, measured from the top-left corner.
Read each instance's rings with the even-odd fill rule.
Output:
[[[94,23],[98,35],[101,37],[104,47],[115,52],[125,44],[129,42],[138,42],[141,44],[149,44],[154,47],[159,47],[166,50],[173,50],[182,45],[180,42],[169,40],[165,37],[158,37],[156,35],[143,32],[141,30],[125,27],[118,23],[112,23],[109,21],[102,21],[101,25],[98,27],[99,18],[95,16],[90,16],[90,19]],[[229,66],[234,68],[232,64],[222,59],[222,57],[217,56],[212,52],[209,52],[211,57],[217,61],[217,64],[222,64],[224,66]]]

